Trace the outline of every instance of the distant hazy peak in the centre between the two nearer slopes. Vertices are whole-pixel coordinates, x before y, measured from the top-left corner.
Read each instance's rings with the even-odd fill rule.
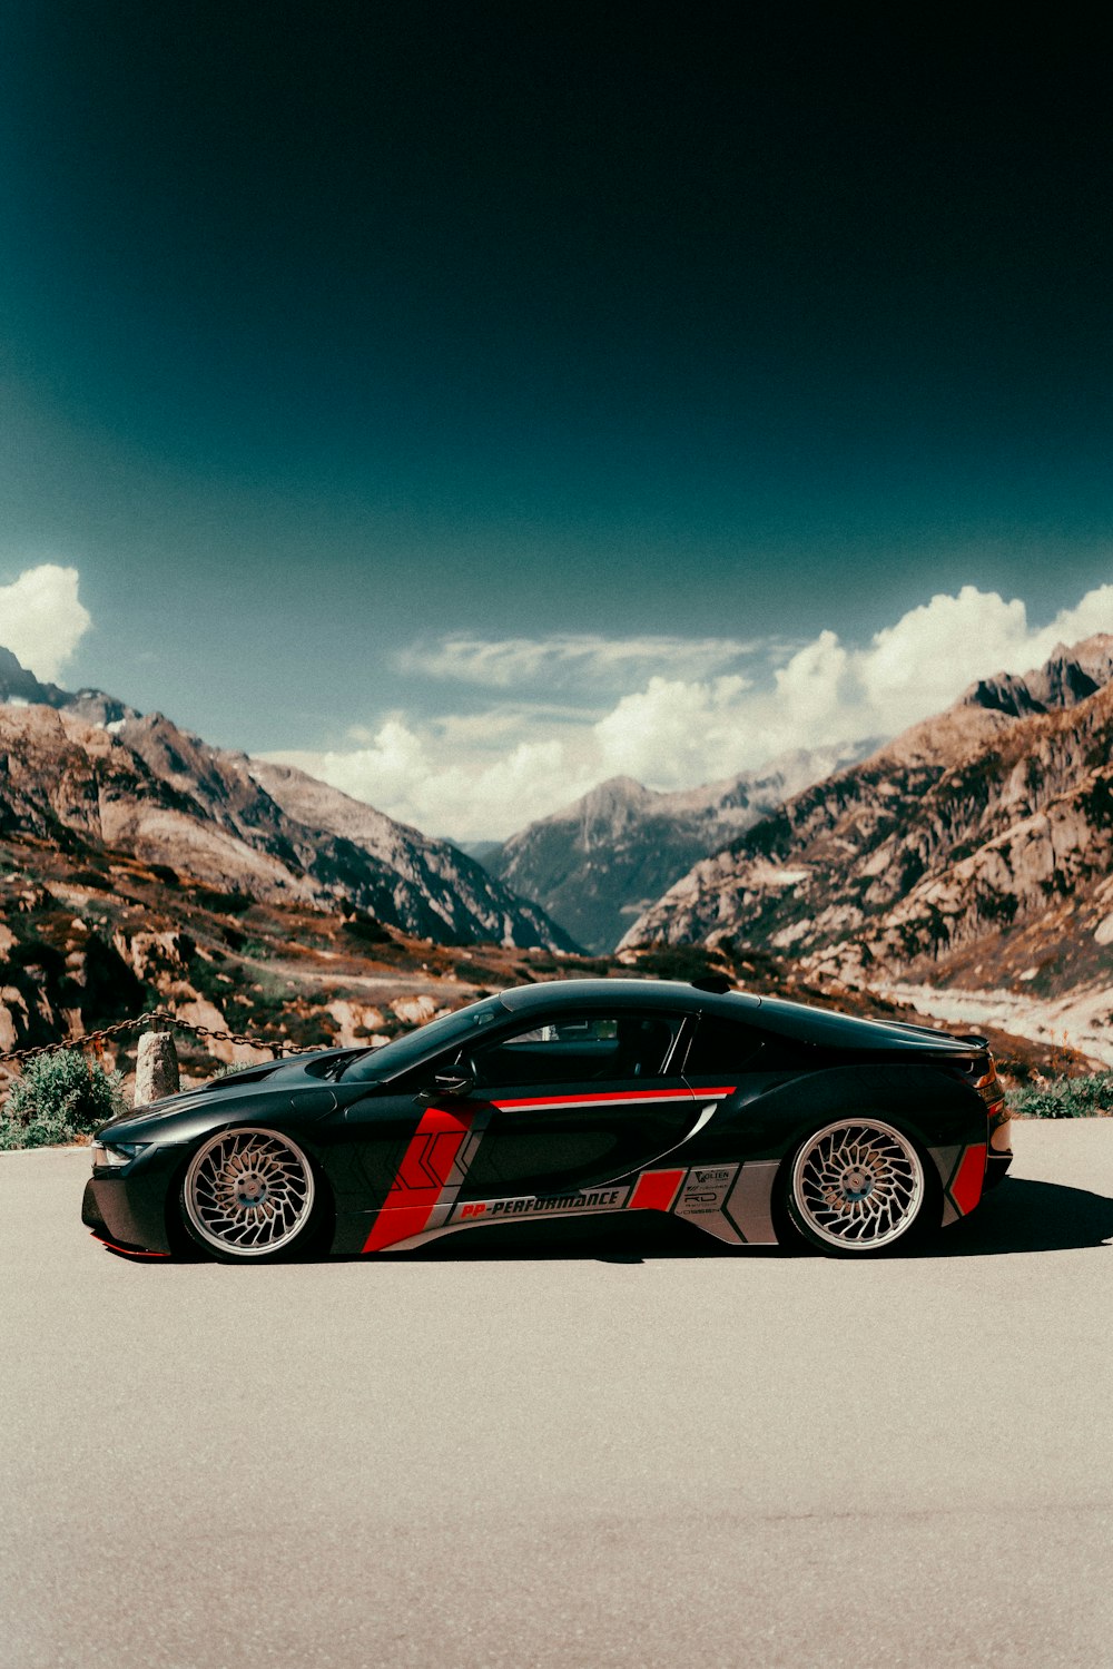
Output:
[[[874,746],[796,749],[759,771],[679,793],[614,776],[486,850],[482,861],[516,893],[542,905],[581,945],[602,953],[692,863]]]

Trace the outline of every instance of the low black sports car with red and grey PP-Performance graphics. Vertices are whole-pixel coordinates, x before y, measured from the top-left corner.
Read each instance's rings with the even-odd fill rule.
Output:
[[[637,1210],[861,1257],[1006,1172],[983,1038],[713,985],[529,985],[384,1048],[219,1078],[100,1130],[82,1217],[144,1257],[385,1252]]]

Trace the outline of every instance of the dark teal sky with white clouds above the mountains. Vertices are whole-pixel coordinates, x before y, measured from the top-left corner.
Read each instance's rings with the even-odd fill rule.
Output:
[[[65,681],[464,838],[896,728],[906,618],[924,699],[1038,646],[1113,577],[1103,60],[901,28],[17,0],[0,584],[77,571]]]

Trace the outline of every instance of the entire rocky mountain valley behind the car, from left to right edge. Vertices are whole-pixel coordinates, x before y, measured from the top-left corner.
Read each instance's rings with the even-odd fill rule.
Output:
[[[169,1006],[259,1040],[184,1036],[205,1077],[269,1045],[374,1046],[516,983],[718,971],[978,1026],[1015,1082],[1113,1065],[1111,671],[1095,638],[881,748],[674,794],[614,779],[484,866],[0,656],[0,1051]],[[105,1058],[130,1070],[133,1041]]]

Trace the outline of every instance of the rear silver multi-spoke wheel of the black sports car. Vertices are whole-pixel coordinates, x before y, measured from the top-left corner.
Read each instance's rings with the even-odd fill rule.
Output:
[[[876,1252],[914,1223],[924,1200],[919,1153],[878,1118],[841,1118],[801,1147],[793,1205],[801,1227],[846,1252]]]

